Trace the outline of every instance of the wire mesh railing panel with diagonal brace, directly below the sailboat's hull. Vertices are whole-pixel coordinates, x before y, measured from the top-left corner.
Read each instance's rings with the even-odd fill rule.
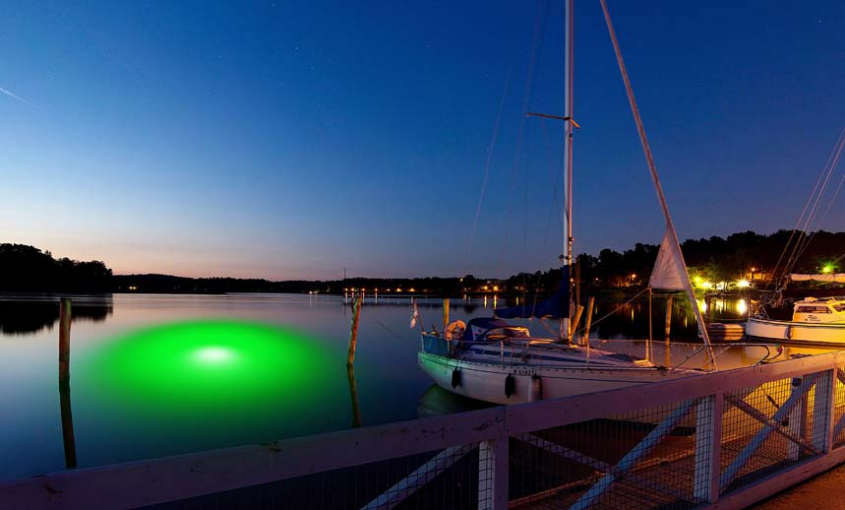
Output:
[[[527,451],[511,461],[511,507],[695,507],[696,404],[652,407],[517,438]],[[515,465],[520,460],[525,462]]]

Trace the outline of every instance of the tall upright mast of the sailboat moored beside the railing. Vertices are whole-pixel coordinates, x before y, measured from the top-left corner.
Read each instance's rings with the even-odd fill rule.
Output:
[[[566,225],[563,235],[563,268],[562,277],[572,281],[572,127],[573,127],[573,106],[574,106],[574,34],[575,34],[575,0],[566,0],[565,2],[565,23],[566,23],[566,39],[565,39],[565,78],[564,78],[564,194],[565,211],[566,211]],[[563,341],[569,341],[569,316],[570,316],[570,295],[569,282],[567,283],[567,292],[565,294],[563,303],[563,313],[561,321],[560,337]]]

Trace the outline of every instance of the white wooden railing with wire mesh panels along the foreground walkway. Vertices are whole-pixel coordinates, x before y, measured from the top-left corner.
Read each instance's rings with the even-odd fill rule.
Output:
[[[0,508],[738,509],[845,462],[843,369],[833,352],[76,469],[0,483]]]

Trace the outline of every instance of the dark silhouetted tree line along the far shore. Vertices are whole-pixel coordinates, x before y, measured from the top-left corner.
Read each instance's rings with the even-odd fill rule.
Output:
[[[845,257],[845,232],[813,233],[779,230],[770,235],[739,232],[726,238],[689,239],[681,248],[697,279],[712,282],[752,278],[752,284],[769,281],[773,271],[793,255],[784,256],[792,239],[802,241],[796,252],[795,271],[818,273],[839,271]],[[807,243],[806,241],[811,241]],[[618,252],[601,250],[598,255],[581,254],[576,258],[573,276],[584,290],[642,287],[647,285],[659,246],[637,243]],[[756,276],[756,279],[755,279]],[[56,259],[49,251],[21,244],[0,244],[0,291],[54,292],[344,292],[382,294],[431,294],[460,296],[473,293],[547,294],[557,288],[558,268],[534,273],[522,272],[508,278],[463,277],[425,278],[347,278],[345,280],[287,280],[241,278],[185,278],[171,275],[113,275],[101,261]]]

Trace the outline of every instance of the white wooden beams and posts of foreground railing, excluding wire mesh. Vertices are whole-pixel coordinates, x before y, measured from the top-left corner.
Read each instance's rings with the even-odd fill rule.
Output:
[[[807,478],[845,462],[845,448],[835,445],[845,427],[845,416],[837,413],[837,391],[845,391],[845,351],[798,358],[691,376],[684,379],[632,386],[619,390],[497,407],[434,418],[419,419],[362,429],[278,441],[268,444],[214,450],[203,453],[131,462],[91,469],[77,469],[28,479],[0,483],[0,508],[29,509],[124,509],[185,500],[195,496],[255,486],[336,469],[404,456],[444,450],[452,457],[469,448],[479,449],[479,508],[501,510],[508,507],[509,440],[525,439],[532,433],[608,418],[661,405],[675,405],[680,414],[696,409],[695,487],[701,509],[738,509],[769,497]],[[742,410],[762,423],[762,428],[727,468],[722,466],[723,410],[742,406],[732,402],[732,392],[761,387],[772,381],[794,378],[793,393],[773,416]],[[807,405],[810,388],[815,401]],[[841,411],[841,409],[840,409]],[[793,419],[781,426],[784,416],[812,413],[812,430],[806,419]],[[672,415],[658,424],[638,445],[647,451],[649,441],[677,423]],[[675,420],[675,421],[672,421]],[[785,437],[794,462],[770,476],[739,489],[726,491],[736,474],[734,464],[754,455],[755,445],[771,435]],[[799,437],[800,436],[800,437]],[[536,436],[534,436],[536,438]],[[656,443],[655,443],[656,444]],[[473,445],[473,446],[469,446]],[[541,445],[542,446],[542,445]],[[554,449],[554,445],[548,445]],[[462,450],[463,449],[463,450]],[[566,455],[565,448],[557,453]],[[799,457],[798,452],[804,452]],[[464,452],[465,453],[465,452]],[[439,457],[439,456],[437,456]],[[437,457],[420,466],[391,488],[395,501],[413,492],[408,479],[423,482],[442,471]],[[642,455],[639,455],[642,457]],[[588,508],[595,497],[625,476],[639,461],[634,451],[616,466],[599,465],[601,477],[572,509]],[[483,466],[482,466],[483,464]],[[740,466],[741,467],[741,466]],[[404,486],[401,484],[405,483]],[[398,499],[396,499],[398,498]],[[379,506],[377,502],[371,505]]]

